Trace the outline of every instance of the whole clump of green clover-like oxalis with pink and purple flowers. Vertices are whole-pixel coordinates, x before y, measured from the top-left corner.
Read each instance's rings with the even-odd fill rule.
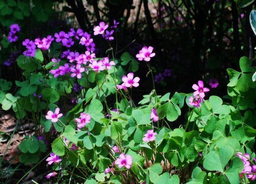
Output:
[[[35,124],[35,134],[19,145],[20,162],[45,162],[52,168],[46,177],[58,183],[255,180],[256,82],[250,60],[240,59],[241,71],[227,69],[225,103],[207,97],[203,79],[191,85],[190,94],[160,96],[150,66],[154,48],[143,47],[136,58],[148,67],[153,85],[136,104],[138,61],[127,52],[116,58],[112,41],[118,24],[100,22],[94,28],[110,46],[104,58],[96,58],[93,36],[81,29],[23,41],[26,50],[17,64],[24,80],[16,81],[15,96],[7,92],[11,84],[1,81],[3,109],[13,108],[18,119],[32,116]],[[184,127],[170,128],[184,105],[189,109]],[[43,152],[49,154],[42,159]]]

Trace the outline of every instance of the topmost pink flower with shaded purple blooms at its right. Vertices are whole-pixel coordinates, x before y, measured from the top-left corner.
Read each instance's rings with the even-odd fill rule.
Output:
[[[119,25],[119,22],[117,22],[116,20],[114,20],[114,25],[111,27],[112,29],[117,29],[117,25]],[[114,37],[112,36],[112,34],[114,33],[114,30],[108,31],[106,29],[108,29],[109,25],[105,25],[105,22],[99,22],[99,26],[96,26],[93,31],[94,31],[94,35],[102,35],[102,38],[112,41],[114,40]]]

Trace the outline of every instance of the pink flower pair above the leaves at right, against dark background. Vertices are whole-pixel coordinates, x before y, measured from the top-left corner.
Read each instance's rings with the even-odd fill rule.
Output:
[[[204,82],[203,81],[198,81],[198,85],[194,84],[192,86],[193,89],[196,91],[193,93],[194,97],[191,96],[188,101],[189,105],[194,106],[194,107],[200,107],[200,104],[204,101],[205,94],[209,91],[209,88],[204,87]]]

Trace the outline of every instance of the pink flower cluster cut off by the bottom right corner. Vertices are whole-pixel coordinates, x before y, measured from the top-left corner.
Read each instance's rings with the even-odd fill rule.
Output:
[[[252,165],[250,166],[250,155],[248,153],[241,153],[241,152],[237,152],[236,154],[239,158],[242,159],[243,163],[244,163],[244,169],[242,171],[242,173],[240,174],[240,177],[243,177],[244,175],[246,175],[246,177],[248,179],[251,180],[255,180],[256,179],[256,165]],[[256,158],[254,158],[254,161],[256,162]]]

